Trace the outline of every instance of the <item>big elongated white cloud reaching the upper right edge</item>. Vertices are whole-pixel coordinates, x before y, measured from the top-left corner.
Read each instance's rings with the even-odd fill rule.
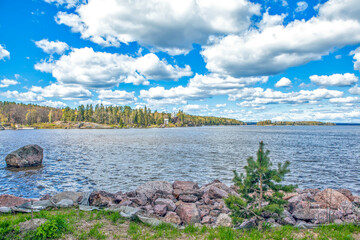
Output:
[[[330,11],[332,5],[338,11]],[[319,16],[307,21],[284,25],[278,16],[268,27],[215,38],[203,47],[206,67],[234,77],[262,76],[319,60],[336,47],[360,43],[360,16],[354,13],[359,5],[356,0],[329,0],[320,6]]]

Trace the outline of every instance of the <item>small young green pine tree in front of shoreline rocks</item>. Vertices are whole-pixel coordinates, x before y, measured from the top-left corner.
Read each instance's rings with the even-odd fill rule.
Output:
[[[226,205],[232,211],[234,223],[252,217],[262,220],[264,215],[269,214],[279,217],[287,203],[283,200],[283,193],[291,192],[295,188],[293,185],[281,184],[285,175],[290,172],[290,162],[279,163],[277,169],[271,168],[270,151],[265,151],[264,145],[261,141],[256,160],[253,157],[247,159],[245,175],[234,171],[233,181],[239,189],[240,197],[231,195],[225,199]]]

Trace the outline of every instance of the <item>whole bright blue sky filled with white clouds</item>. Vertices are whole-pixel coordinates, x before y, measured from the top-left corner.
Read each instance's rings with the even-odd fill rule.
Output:
[[[0,101],[360,122],[359,0],[0,0]]]

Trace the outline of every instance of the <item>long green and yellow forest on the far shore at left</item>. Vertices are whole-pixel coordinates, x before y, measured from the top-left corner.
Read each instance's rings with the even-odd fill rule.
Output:
[[[156,127],[156,126],[211,126],[244,125],[242,121],[229,118],[193,116],[179,110],[177,113],[160,113],[144,107],[104,106],[102,104],[80,105],[63,109],[34,104],[0,101],[0,124],[3,126],[39,126],[54,122],[93,122],[113,127]]]

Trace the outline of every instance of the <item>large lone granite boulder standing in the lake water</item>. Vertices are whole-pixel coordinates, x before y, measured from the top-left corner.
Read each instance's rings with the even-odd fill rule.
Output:
[[[36,144],[31,144],[8,154],[5,161],[9,168],[36,167],[41,166],[43,156],[43,149]]]

